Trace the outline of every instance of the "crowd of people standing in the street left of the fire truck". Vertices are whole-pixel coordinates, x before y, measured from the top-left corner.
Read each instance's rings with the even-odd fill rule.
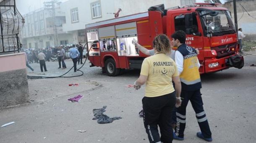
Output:
[[[71,49],[71,50],[69,50]],[[74,55],[74,49],[77,52],[77,55]],[[62,65],[62,69],[67,68],[66,64],[65,64],[65,59],[66,59],[66,51],[70,51],[69,52],[69,56],[72,58],[73,60],[73,66],[74,66],[74,72],[76,72],[76,64],[78,62],[83,64],[82,62],[82,58],[83,58],[83,50],[84,50],[84,46],[81,44],[81,42],[79,42],[79,44],[72,44],[72,45],[60,45],[58,47],[49,47],[49,48],[38,48],[38,49],[27,49],[27,50],[21,50],[21,52],[25,52],[26,54],[26,66],[28,68],[30,68],[32,71],[34,71],[33,68],[31,68],[31,66],[29,65],[29,63],[39,63],[40,64],[40,69],[41,72],[43,71],[47,71],[46,68],[46,63],[45,61],[50,61],[51,57],[57,58],[58,63],[59,63],[59,67],[61,68]],[[75,59],[75,60],[74,60]],[[43,69],[44,68],[44,69]]]

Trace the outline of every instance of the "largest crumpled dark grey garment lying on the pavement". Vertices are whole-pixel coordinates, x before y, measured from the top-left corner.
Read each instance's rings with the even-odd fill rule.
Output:
[[[103,114],[106,110],[107,106],[103,106],[103,108],[100,109],[93,109],[93,115],[95,116],[92,120],[97,120],[99,124],[106,124],[106,123],[112,123],[114,120],[119,120],[121,117],[113,117],[110,118],[109,116]]]

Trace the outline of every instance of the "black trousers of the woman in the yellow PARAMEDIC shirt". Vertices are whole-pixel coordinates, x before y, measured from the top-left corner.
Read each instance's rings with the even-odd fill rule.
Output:
[[[172,143],[172,110],[175,107],[175,92],[159,97],[144,97],[144,127],[150,143]],[[160,128],[161,137],[158,133]]]

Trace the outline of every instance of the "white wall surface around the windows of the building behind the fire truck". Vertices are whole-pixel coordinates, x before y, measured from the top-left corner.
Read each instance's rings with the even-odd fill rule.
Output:
[[[102,17],[92,18],[91,3],[99,1],[101,4]],[[191,0],[188,0],[191,1]],[[154,5],[165,4],[165,8],[180,5],[180,0],[68,0],[60,4],[60,9],[65,11],[66,23],[63,24],[64,31],[85,29],[85,25],[102,20],[115,18],[114,14],[121,8],[120,17],[148,11]],[[71,23],[71,9],[78,8],[79,22]]]

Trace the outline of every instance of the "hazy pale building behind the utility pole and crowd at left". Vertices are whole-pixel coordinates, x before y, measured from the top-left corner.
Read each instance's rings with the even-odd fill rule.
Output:
[[[22,44],[24,48],[46,48],[56,45],[69,44],[71,34],[63,31],[65,13],[61,12],[60,6],[55,7],[55,27],[52,10],[38,9],[24,15],[25,24],[21,30]],[[57,30],[55,40],[54,28]]]

